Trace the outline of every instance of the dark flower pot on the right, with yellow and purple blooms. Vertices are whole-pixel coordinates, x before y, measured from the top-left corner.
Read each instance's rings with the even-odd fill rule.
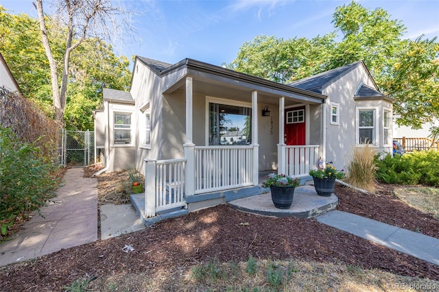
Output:
[[[341,180],[346,176],[346,173],[344,173],[344,169],[338,170],[332,165],[327,165],[324,168],[309,171],[309,175],[313,177],[317,194],[330,197],[334,191],[335,180]]]

